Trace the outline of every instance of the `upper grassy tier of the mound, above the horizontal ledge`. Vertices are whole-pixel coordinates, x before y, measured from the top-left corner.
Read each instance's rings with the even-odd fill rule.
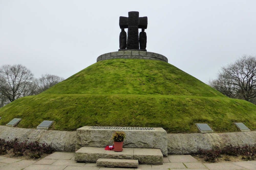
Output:
[[[72,75],[42,94],[162,94],[224,97],[163,61],[112,59]]]

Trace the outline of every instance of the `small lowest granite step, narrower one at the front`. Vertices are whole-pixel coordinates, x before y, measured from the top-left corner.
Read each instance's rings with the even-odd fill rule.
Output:
[[[111,159],[111,158],[100,158],[96,161],[97,166],[107,167],[135,167],[139,166],[137,159]]]

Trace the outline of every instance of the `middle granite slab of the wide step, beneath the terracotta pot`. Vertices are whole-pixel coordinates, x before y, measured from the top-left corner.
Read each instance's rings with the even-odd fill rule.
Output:
[[[133,151],[134,151],[134,148],[123,148],[122,152],[114,152],[114,151],[106,150],[104,153],[104,158],[133,159]]]

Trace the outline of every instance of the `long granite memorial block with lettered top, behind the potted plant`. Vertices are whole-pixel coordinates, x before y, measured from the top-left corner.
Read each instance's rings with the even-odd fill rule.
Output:
[[[124,148],[156,148],[167,156],[167,132],[161,127],[84,126],[77,129],[76,150],[114,145],[112,134],[115,131],[125,132]]]

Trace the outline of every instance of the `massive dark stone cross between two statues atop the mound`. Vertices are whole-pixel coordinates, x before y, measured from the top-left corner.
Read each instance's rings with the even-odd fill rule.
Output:
[[[128,17],[119,18],[120,28],[128,28],[126,49],[139,49],[138,29],[147,29],[147,17],[139,17],[139,12],[128,12]]]

